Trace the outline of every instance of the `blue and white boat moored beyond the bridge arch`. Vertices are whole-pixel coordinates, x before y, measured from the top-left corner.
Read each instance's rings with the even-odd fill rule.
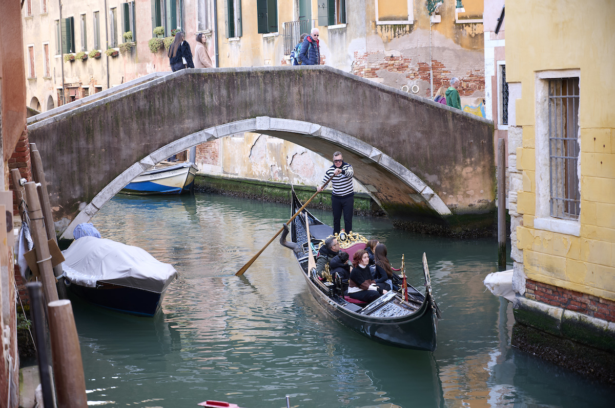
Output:
[[[119,192],[122,194],[181,194],[191,190],[197,167],[189,161],[162,161],[135,177]]]

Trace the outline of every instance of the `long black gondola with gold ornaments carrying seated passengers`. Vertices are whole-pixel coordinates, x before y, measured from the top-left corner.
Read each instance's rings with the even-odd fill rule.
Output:
[[[291,214],[302,207],[301,202],[292,189]],[[315,270],[308,271],[308,233],[306,218],[309,220],[309,235],[311,244],[318,248],[323,240],[333,234],[333,228],[322,223],[308,210],[295,217],[280,237],[280,244],[291,248],[295,253],[297,263],[306,280],[309,291],[314,299],[336,320],[357,331],[363,336],[396,347],[415,350],[435,351],[437,347],[436,333],[440,311],[432,296],[431,278],[427,258],[423,253],[423,272],[425,275],[425,294],[407,285],[408,298],[403,293],[389,291],[370,304],[357,304],[357,301],[344,296],[342,283],[335,279],[319,280]],[[292,241],[287,241],[288,233]],[[358,234],[341,233],[338,242],[341,250],[352,253],[365,246]],[[365,238],[361,237],[365,242]]]

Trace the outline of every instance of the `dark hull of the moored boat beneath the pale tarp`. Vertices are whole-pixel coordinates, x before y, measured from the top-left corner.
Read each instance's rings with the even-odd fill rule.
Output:
[[[68,283],[68,289],[79,298],[106,309],[137,316],[151,317],[160,310],[164,293],[127,288],[117,285],[97,285],[88,288]]]

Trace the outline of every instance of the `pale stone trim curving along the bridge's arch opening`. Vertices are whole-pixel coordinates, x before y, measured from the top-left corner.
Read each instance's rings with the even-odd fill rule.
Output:
[[[181,137],[157,149],[155,152],[145,156],[145,158],[133,163],[132,166],[125,169],[125,171],[113,179],[100,191],[100,193],[96,194],[89,204],[79,211],[79,214],[77,214],[68,225],[68,228],[63,232],[62,238],[73,239],[73,230],[77,225],[89,221],[105,202],[109,201],[118,191],[124,188],[130,180],[140,175],[143,171],[153,167],[154,164],[197,144],[219,139],[221,137],[232,136],[237,133],[248,132],[270,134],[271,136],[276,136],[285,140],[296,140],[297,137],[321,139],[325,144],[330,145],[330,152],[333,152],[333,150],[340,150],[344,153],[345,157],[357,156],[363,160],[363,163],[373,163],[374,166],[377,166],[380,171],[387,174],[388,177],[397,177],[397,179],[405,185],[405,188],[409,189],[408,191],[415,191],[409,194],[413,194],[416,201],[425,202],[426,206],[438,215],[444,217],[451,214],[451,211],[446,207],[446,204],[438,194],[435,194],[416,174],[392,159],[391,156],[362,142],[356,137],[336,129],[328,128],[327,126],[318,125],[317,123],[285,118],[257,117],[254,119],[239,120],[224,125],[213,126],[212,128],[189,134],[188,136]],[[304,145],[307,144],[309,144],[309,142],[304,143]],[[355,178],[363,185],[367,185],[368,190],[370,190],[370,187],[373,188],[372,182],[369,179],[365,179],[366,172],[364,167],[365,166],[357,166],[357,169],[363,169],[363,171],[355,170]],[[370,172],[370,177],[372,175],[373,172]],[[403,187],[399,186],[398,188],[401,189]],[[378,197],[373,198],[379,205],[382,205]],[[384,208],[386,209],[386,207]]]

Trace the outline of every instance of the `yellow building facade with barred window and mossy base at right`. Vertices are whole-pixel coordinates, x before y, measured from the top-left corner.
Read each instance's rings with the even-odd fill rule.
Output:
[[[615,2],[506,6],[513,342],[549,358],[541,346],[573,340],[612,373]]]

